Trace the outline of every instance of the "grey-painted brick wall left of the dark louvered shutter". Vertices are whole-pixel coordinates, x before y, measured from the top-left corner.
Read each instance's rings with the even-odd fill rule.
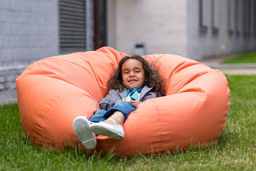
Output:
[[[32,62],[59,54],[58,0],[0,1],[0,90]]]

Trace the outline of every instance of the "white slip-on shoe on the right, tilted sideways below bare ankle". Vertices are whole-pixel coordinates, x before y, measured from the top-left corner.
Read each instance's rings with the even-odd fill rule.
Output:
[[[115,121],[113,121],[113,123],[115,123]],[[116,123],[115,125],[105,124],[103,122],[93,123],[91,124],[91,131],[95,133],[95,135],[108,136],[114,140],[120,140],[124,138],[123,125],[116,125]]]

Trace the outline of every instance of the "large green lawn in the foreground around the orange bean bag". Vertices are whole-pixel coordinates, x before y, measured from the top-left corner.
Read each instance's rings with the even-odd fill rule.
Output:
[[[231,106],[212,147],[166,156],[99,157],[80,150],[39,151],[25,136],[17,104],[0,106],[0,170],[255,170],[256,75],[226,75]]]

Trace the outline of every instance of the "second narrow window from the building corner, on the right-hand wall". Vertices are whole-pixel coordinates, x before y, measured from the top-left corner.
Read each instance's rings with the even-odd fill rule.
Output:
[[[212,32],[218,33],[218,1],[212,0]]]

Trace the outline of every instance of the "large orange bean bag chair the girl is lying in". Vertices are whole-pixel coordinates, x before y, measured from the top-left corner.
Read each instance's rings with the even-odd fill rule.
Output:
[[[96,51],[54,56],[31,64],[17,78],[23,129],[34,143],[62,149],[80,144],[72,122],[99,109],[107,81],[126,54],[103,47]],[[123,127],[125,137],[97,136],[96,152],[131,156],[163,154],[216,143],[225,127],[230,90],[220,71],[177,55],[143,56],[159,67],[166,96],[149,99],[133,111]]]

